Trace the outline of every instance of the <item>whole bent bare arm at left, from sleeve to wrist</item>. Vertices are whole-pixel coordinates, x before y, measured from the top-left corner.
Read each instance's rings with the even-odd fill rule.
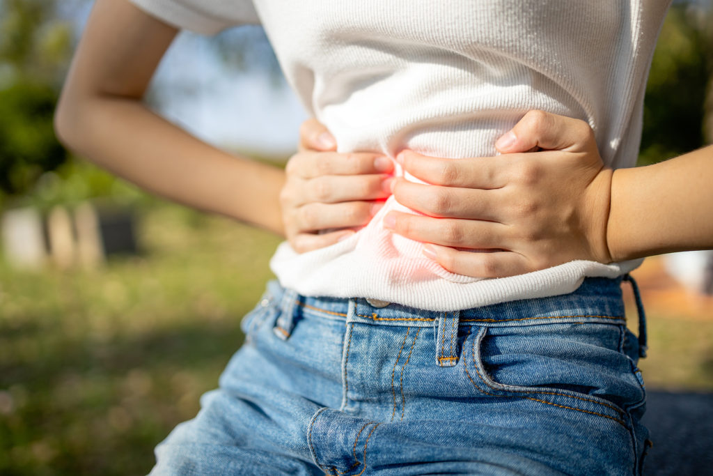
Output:
[[[282,233],[281,170],[209,146],[141,102],[177,32],[128,1],[96,1],[58,102],[58,138],[148,191]]]

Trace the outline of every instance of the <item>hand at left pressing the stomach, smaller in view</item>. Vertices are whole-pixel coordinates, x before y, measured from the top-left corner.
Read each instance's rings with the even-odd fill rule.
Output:
[[[287,162],[279,196],[287,240],[297,253],[349,237],[391,195],[391,159],[336,150],[337,141],[316,119],[302,123],[299,152]]]

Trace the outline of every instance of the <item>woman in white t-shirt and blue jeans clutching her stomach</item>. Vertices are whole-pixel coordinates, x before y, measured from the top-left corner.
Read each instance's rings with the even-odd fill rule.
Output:
[[[611,172],[636,156],[668,4],[98,0],[63,89],[58,136],[150,191],[281,232],[281,172],[235,160],[140,103],[177,27],[212,34],[260,21],[305,106],[339,151],[352,152],[348,167],[334,153],[316,171],[299,158],[289,167],[288,233],[313,248],[344,231],[319,243],[305,232],[364,224],[319,222],[314,210],[334,208],[315,201],[352,211],[364,209],[359,198],[386,196],[391,166],[377,158],[406,149],[488,157],[498,137],[510,138],[489,168],[406,152],[399,174],[444,187],[399,179],[399,201],[369,204],[375,216],[358,233],[310,253],[281,245],[272,268],[282,285],[271,283],[243,320],[246,345],[198,416],[157,447],[153,472],[640,473],[647,432],[635,362],[645,342],[626,328],[619,288],[638,262],[599,261],[713,247],[708,224],[704,233],[689,225],[709,217],[700,183],[688,200],[675,183],[647,179],[681,205],[670,213],[664,203],[653,219],[678,217],[683,231],[655,223],[657,237],[642,240],[652,217],[630,211],[644,209],[636,198],[647,191],[617,186],[631,174]],[[525,115],[533,109],[547,112]],[[510,154],[535,146],[550,150]],[[710,176],[709,157],[692,153],[676,173]],[[439,178],[438,168],[448,173]],[[355,172],[365,175],[342,176]],[[431,193],[447,200],[419,202]],[[520,209],[505,217],[506,203]],[[527,226],[538,233],[520,233]],[[436,243],[433,252],[411,238]]]

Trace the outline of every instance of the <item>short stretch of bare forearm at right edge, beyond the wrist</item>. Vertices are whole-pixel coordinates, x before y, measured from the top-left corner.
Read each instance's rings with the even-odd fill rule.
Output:
[[[713,249],[713,146],[615,171],[607,244],[615,261]]]

